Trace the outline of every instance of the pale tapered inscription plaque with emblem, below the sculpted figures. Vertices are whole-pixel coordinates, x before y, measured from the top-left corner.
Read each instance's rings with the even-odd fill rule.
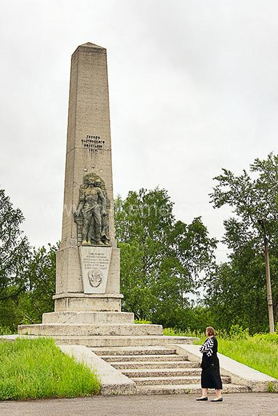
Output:
[[[84,293],[106,293],[111,253],[111,247],[79,247]]]

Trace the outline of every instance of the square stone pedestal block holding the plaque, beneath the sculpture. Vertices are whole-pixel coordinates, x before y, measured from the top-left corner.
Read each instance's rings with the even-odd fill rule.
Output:
[[[56,263],[55,311],[121,310],[119,249],[65,247]]]

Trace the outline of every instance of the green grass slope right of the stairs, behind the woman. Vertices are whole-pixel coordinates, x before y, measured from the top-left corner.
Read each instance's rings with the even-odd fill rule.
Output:
[[[163,334],[199,338],[194,341],[194,344],[202,344],[206,340],[204,333],[190,331],[190,329],[188,331],[177,331],[172,328],[165,328]],[[236,336],[220,334],[217,337],[218,352],[278,379],[277,337],[277,334],[257,334],[252,337],[247,335],[245,331]]]

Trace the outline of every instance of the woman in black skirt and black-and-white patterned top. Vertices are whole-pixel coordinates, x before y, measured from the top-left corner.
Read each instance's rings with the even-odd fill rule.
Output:
[[[216,399],[211,401],[223,401],[221,397],[222,380],[220,377],[219,360],[217,356],[218,342],[215,338],[215,331],[212,326],[206,328],[206,341],[199,349],[202,356],[202,397],[198,397],[196,400],[206,401],[208,400],[208,389],[214,388],[216,392]]]

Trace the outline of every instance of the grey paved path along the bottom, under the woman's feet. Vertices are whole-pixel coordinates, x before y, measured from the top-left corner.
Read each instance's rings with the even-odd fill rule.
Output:
[[[1,416],[278,416],[278,394],[223,395],[222,403],[195,401],[195,394],[85,397],[2,401]]]

